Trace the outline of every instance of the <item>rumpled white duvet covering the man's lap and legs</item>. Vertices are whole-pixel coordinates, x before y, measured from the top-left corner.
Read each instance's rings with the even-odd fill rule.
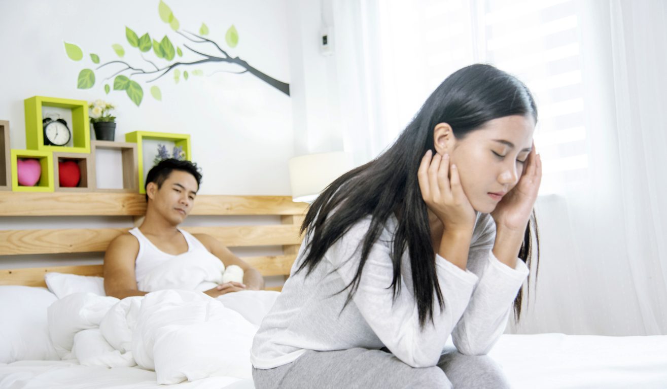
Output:
[[[176,257],[145,278],[145,290],[156,290],[146,296],[71,294],[48,309],[51,340],[61,359],[138,365],[155,370],[158,384],[251,378],[252,338],[278,292],[235,292],[216,300],[193,291],[209,289],[220,276],[215,264]]]

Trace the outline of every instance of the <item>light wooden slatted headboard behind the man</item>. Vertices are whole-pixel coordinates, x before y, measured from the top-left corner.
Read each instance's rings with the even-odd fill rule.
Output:
[[[138,193],[25,193],[0,191],[0,224],[4,216],[131,216],[127,228],[66,228],[0,230],[3,256],[104,252],[119,234],[140,224],[145,196]],[[194,216],[279,216],[281,224],[267,226],[183,227],[191,234],[209,234],[230,248],[282,246],[283,255],[245,257],[263,276],[287,276],[301,244],[299,226],[307,204],[287,196],[199,195],[190,213]],[[11,226],[10,226],[11,227]],[[102,265],[54,266],[0,270],[0,285],[45,286],[46,272],[101,276]],[[280,287],[270,288],[280,290]]]

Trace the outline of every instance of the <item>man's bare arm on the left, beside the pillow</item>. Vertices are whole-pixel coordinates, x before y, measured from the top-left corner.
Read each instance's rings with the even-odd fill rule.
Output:
[[[144,296],[137,288],[134,266],[139,254],[139,241],[131,234],[122,234],[111,241],[104,254],[104,290],[107,296],[126,298]]]

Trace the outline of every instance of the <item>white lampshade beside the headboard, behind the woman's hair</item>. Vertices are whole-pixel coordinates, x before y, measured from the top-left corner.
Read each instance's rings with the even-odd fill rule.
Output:
[[[354,167],[344,151],[301,155],[289,159],[289,181],[294,202],[314,202],[329,183]]]

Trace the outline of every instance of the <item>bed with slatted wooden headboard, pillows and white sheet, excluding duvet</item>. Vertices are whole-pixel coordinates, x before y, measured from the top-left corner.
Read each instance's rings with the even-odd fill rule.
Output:
[[[214,236],[231,248],[280,248],[277,255],[242,256],[263,276],[275,280],[287,276],[295,260],[305,209],[305,204],[283,196],[201,195],[192,216],[232,216],[247,221],[235,219],[238,226],[206,223],[184,229]],[[143,196],[134,193],[0,192],[0,261],[3,256],[103,252],[115,236],[141,222],[144,210]],[[128,225],[71,228],[71,222],[65,223],[81,220],[81,216],[119,218]],[[62,218],[68,228],[12,229],[5,222],[37,220],[35,217]],[[4,362],[0,363],[0,388],[165,387],[158,384],[153,370],[84,366],[75,359],[59,360],[40,350],[50,342],[45,327],[48,307],[65,300],[45,288],[47,273],[79,275],[88,282],[101,276],[102,266],[0,270],[0,362]],[[67,293],[84,288],[80,285],[70,282]],[[280,290],[280,286],[271,289]],[[506,334],[490,355],[503,366],[514,388],[667,388],[667,336]],[[253,388],[250,379],[233,376],[210,376],[171,386]]]

